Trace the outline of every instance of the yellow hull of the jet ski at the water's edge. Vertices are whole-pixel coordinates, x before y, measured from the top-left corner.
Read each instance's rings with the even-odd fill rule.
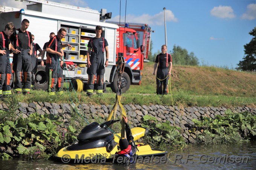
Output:
[[[140,137],[143,137],[148,131],[145,128],[132,128],[131,132],[134,137],[134,141],[138,140]],[[108,136],[107,138],[111,138],[111,142],[108,142],[108,144],[104,147],[97,147],[97,146],[103,146],[102,143],[104,143],[104,140],[98,140],[95,142],[88,142],[88,144],[96,143],[95,146],[92,146],[94,148],[91,149],[82,149],[83,143],[82,142],[75,142],[71,144],[70,146],[66,146],[59,150],[58,153],[54,155],[54,158],[56,160],[62,161],[64,163],[87,163],[87,162],[93,162],[95,161],[109,161],[113,160],[115,153],[119,152],[119,146],[118,142],[120,139],[120,133],[119,134],[113,134],[112,136]],[[106,139],[107,139],[106,138]],[[107,140],[109,141],[109,139]],[[86,142],[86,141],[85,141]],[[111,143],[111,144],[109,144]],[[87,144],[84,144],[84,148]],[[167,152],[164,150],[156,150],[152,149],[149,145],[145,145],[143,143],[136,143],[137,146],[137,152],[136,155],[138,156],[164,156]]]

